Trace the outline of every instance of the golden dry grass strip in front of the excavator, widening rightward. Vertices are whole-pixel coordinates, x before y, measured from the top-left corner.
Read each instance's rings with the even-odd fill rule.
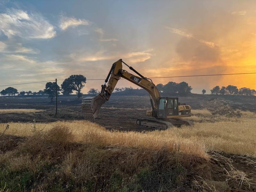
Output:
[[[47,131],[56,126],[63,126],[72,131],[74,141],[81,143],[153,150],[165,147],[170,152],[180,151],[205,158],[208,151],[256,156],[256,114],[241,113],[241,117],[228,118],[212,116],[207,109],[193,110],[192,116],[188,117],[195,121],[193,127],[174,127],[153,132],[111,132],[88,121],[59,121],[35,124],[9,123],[9,129],[5,133],[26,137],[33,134],[31,130],[34,128]],[[4,132],[5,126],[6,124],[0,124],[0,132]]]

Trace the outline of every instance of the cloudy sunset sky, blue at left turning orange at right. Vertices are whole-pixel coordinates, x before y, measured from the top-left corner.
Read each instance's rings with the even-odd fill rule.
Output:
[[[256,3],[0,0],[0,85],[72,74],[104,79],[118,59],[146,77],[256,72]],[[185,81],[194,93],[229,84],[256,89],[255,74],[153,81]],[[87,81],[82,92],[103,83]],[[136,88],[117,84],[125,86]],[[45,82],[13,87],[38,91]]]

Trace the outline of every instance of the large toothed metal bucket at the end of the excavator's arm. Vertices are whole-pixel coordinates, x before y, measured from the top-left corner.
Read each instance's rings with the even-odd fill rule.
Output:
[[[94,97],[85,97],[82,100],[82,111],[84,112],[84,118],[89,121],[94,121],[94,119],[99,115],[101,106],[107,100],[101,95]]]

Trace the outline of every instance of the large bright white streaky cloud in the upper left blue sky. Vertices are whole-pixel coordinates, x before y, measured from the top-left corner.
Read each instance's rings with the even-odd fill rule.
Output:
[[[39,14],[28,14],[23,10],[8,9],[0,13],[0,30],[5,36],[49,39],[56,36],[54,27]]]

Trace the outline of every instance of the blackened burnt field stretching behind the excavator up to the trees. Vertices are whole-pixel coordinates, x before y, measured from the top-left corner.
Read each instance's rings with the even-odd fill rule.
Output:
[[[191,94],[188,97],[179,97],[179,102],[186,103],[192,109],[204,108],[205,104],[218,98],[233,109],[256,111],[255,97],[243,96],[213,96]],[[0,114],[0,122],[54,122],[58,120],[83,120],[81,112],[81,99],[76,95],[58,98],[58,115],[55,115],[56,103],[50,102],[47,96],[27,97],[1,97],[0,109],[43,109],[35,113],[6,113]],[[216,106],[213,106],[216,107]],[[118,96],[112,95],[101,110],[96,123],[107,129],[130,131],[137,129],[135,124],[137,118],[146,117],[146,109],[150,109],[148,96]]]

